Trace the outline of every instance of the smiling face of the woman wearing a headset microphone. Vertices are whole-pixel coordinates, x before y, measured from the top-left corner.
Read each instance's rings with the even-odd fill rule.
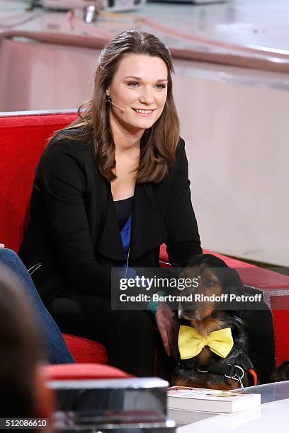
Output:
[[[129,132],[152,127],[164,110],[168,70],[164,60],[145,54],[126,54],[108,87],[111,125],[117,122]]]

